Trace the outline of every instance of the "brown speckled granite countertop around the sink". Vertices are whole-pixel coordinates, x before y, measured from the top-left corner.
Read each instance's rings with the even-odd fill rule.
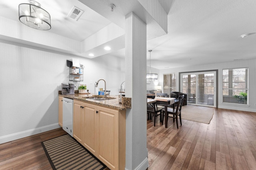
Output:
[[[132,108],[131,104],[128,104],[128,105],[120,104],[119,100],[118,100],[118,96],[112,96],[112,95],[108,95],[107,98],[115,98],[115,99],[103,100],[103,101],[88,99],[88,98],[93,97],[93,96],[97,96],[97,97],[101,97],[101,98],[104,97],[104,96],[99,96],[99,95],[94,95],[94,94],[78,94],[78,93],[75,93],[75,94],[65,94],[65,95],[59,94],[59,96],[64,97],[64,98],[70,98],[70,99],[78,100],[78,101],[81,101],[81,102],[90,103],[90,104],[96,104],[98,106],[109,107],[109,108],[117,109],[117,110],[126,110],[126,109],[131,109]]]

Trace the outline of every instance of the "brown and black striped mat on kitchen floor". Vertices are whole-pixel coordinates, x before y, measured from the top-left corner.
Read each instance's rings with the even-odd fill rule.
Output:
[[[103,170],[106,166],[70,135],[42,142],[54,170]]]

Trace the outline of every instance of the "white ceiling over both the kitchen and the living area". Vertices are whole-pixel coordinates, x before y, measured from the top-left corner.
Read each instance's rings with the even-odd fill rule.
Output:
[[[167,15],[167,34],[153,29],[154,20],[148,12],[141,10],[142,6],[138,4],[138,0],[38,0],[38,2],[51,15],[52,28],[48,31],[76,41],[87,39],[110,23],[124,29],[125,15],[131,11],[135,12],[152,26],[148,29],[147,25],[147,51],[152,49],[151,67],[154,68],[256,59],[256,34],[246,38],[240,37],[245,33],[256,32],[255,0],[158,0],[158,4]],[[0,16],[19,22],[20,3],[28,3],[28,1],[0,0]],[[113,12],[109,7],[112,3],[116,5]],[[78,21],[67,18],[73,6],[84,10]],[[118,42],[115,43],[118,46]],[[124,57],[125,50],[121,47],[108,53]],[[149,65],[149,53],[147,54]]]

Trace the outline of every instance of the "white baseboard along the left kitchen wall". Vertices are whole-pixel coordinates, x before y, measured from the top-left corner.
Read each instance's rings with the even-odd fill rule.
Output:
[[[60,128],[58,123],[0,137],[0,144]]]

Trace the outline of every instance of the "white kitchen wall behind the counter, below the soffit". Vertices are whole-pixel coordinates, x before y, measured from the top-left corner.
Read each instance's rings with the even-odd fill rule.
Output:
[[[0,40],[0,143],[59,127],[57,85],[68,82],[66,60],[74,57],[13,44]],[[125,78],[124,59],[110,55],[74,58],[85,66],[81,84],[87,84],[90,92],[94,92],[94,82],[104,78],[107,90],[118,94]],[[104,88],[103,81],[98,87]]]

